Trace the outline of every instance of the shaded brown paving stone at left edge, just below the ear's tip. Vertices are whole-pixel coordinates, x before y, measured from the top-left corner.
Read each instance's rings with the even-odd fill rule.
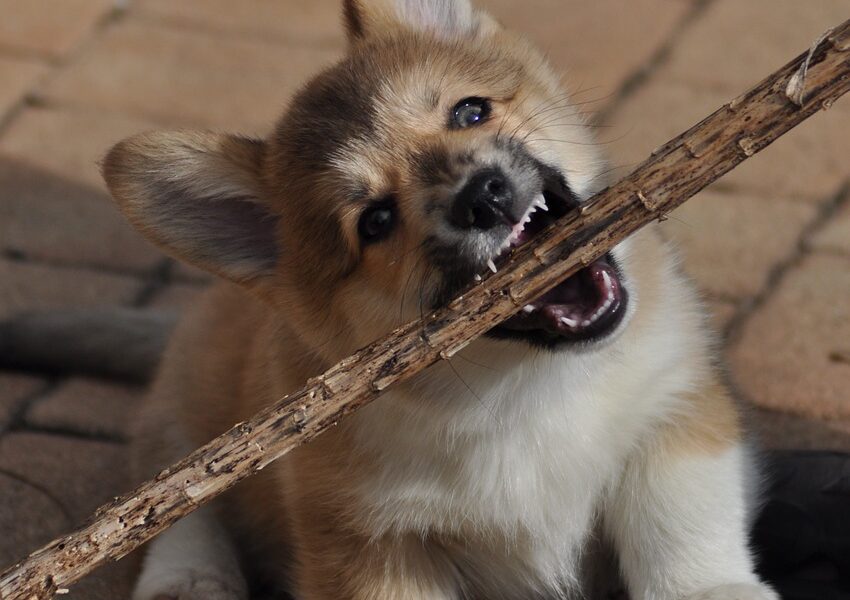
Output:
[[[0,151],[0,249],[51,264],[149,271],[162,255],[106,192]]]

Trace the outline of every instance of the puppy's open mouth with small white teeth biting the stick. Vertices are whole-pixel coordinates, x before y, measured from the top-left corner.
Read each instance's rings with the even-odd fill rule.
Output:
[[[535,198],[505,241],[502,253],[488,263],[491,270],[507,260],[556,219],[577,206],[569,190],[551,181]],[[606,254],[581,269],[498,325],[495,337],[521,337],[546,346],[591,341],[613,332],[626,312],[628,294],[613,256]]]

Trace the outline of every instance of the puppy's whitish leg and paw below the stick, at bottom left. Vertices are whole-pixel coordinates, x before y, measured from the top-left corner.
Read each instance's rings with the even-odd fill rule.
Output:
[[[210,508],[150,543],[133,600],[247,600],[235,550]]]

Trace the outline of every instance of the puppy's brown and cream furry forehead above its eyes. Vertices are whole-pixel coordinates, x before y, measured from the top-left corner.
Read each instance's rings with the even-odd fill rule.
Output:
[[[383,40],[353,49],[310,81],[275,137],[304,167],[324,170],[341,150],[390,145],[399,127],[429,125],[423,117],[441,109],[441,99],[509,93],[521,71],[509,55],[474,45]]]

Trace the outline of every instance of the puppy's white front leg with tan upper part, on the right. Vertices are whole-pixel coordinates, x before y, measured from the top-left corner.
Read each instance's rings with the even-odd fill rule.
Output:
[[[632,600],[776,600],[748,547],[757,474],[728,393],[707,386],[631,460],[605,514]]]

